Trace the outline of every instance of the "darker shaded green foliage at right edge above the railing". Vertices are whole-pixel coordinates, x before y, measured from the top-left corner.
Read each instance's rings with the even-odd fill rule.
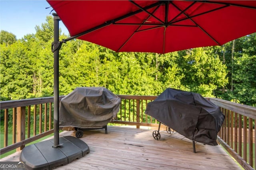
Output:
[[[233,43],[234,53],[232,58]],[[218,51],[218,53],[227,66],[228,84],[223,88],[223,92],[216,91],[216,96],[224,100],[255,107],[256,33],[226,43],[222,51]]]

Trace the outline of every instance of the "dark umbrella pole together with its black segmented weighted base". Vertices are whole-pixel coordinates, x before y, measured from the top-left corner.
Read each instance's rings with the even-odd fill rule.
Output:
[[[52,139],[49,139],[22,149],[20,161],[26,162],[26,169],[31,170],[52,169],[66,165],[90,152],[88,145],[76,137],[59,138],[59,50],[63,42],[59,41],[60,18],[55,13],[52,15],[54,16],[54,42],[52,43],[52,52],[54,53],[54,140],[52,142]],[[59,141],[62,141],[61,145]],[[50,147],[52,143],[54,145]]]

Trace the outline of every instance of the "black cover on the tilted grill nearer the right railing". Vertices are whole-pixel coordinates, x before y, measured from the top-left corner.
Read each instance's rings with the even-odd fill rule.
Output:
[[[172,88],[148,103],[145,113],[188,139],[207,145],[218,145],[217,133],[225,118],[218,106],[200,94]]]

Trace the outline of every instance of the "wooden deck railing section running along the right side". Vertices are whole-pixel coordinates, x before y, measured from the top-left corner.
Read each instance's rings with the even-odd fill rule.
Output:
[[[209,100],[219,106],[226,117],[218,133],[218,143],[242,167],[245,169],[255,168],[256,107],[217,98],[209,98]]]

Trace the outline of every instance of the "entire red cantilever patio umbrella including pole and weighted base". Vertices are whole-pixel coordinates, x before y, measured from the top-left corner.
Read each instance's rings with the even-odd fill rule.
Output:
[[[54,141],[29,145],[20,160],[28,169],[52,169],[90,152],[71,136],[59,138],[59,49],[78,38],[114,51],[168,53],[222,45],[256,32],[256,0],[128,1],[47,0],[54,14]],[[59,20],[71,37],[59,41]],[[61,144],[60,144],[61,143]],[[52,146],[53,145],[53,146]],[[32,155],[32,156],[31,156]]]

